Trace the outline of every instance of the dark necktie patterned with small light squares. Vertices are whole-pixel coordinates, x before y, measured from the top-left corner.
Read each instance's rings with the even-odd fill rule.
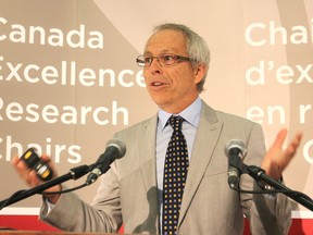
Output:
[[[189,161],[185,136],[181,133],[181,116],[171,116],[167,121],[173,127],[168,143],[163,178],[163,234],[177,231],[180,202],[186,183]]]

